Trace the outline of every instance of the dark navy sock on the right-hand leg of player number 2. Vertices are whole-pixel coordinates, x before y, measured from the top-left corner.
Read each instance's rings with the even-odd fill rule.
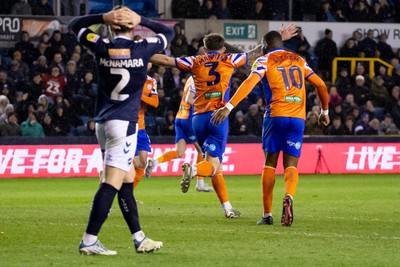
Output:
[[[118,203],[131,233],[133,234],[140,231],[139,214],[137,211],[136,200],[133,196],[133,183],[122,184],[122,187],[118,192]]]

